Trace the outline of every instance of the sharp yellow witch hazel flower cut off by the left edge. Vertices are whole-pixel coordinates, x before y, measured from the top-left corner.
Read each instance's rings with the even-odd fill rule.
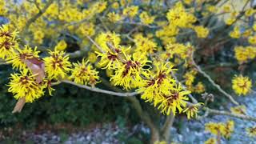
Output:
[[[18,48],[16,31],[11,31],[8,25],[0,27],[0,58],[10,58]]]

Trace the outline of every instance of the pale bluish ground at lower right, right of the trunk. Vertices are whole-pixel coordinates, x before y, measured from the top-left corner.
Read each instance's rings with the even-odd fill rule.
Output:
[[[237,98],[238,102],[247,107],[247,114],[256,117],[256,94]],[[238,118],[230,118],[222,115],[215,115],[203,118],[200,121],[184,121],[179,134],[172,128],[173,141],[182,144],[201,144],[212,135],[205,131],[204,125],[207,122],[226,122],[228,119],[234,121],[234,134],[229,140],[222,139],[222,144],[256,144],[256,138],[250,138],[246,134],[246,128],[256,126],[256,122],[243,121]]]

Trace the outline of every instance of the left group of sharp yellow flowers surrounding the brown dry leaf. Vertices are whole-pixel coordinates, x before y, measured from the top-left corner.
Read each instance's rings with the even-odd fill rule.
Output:
[[[51,91],[51,82],[67,78],[71,70],[69,56],[65,54],[66,42],[62,40],[55,46],[55,50],[49,50],[49,57],[39,57],[37,47],[19,47],[16,39],[17,32],[11,31],[10,26],[4,25],[0,28],[1,58],[11,63],[15,69],[20,70],[18,74],[11,74],[10,88],[8,91],[14,94],[14,98],[25,98],[25,102],[34,102],[45,94],[45,89]],[[94,86],[98,83],[98,72],[85,60],[82,63],[74,63],[70,79],[83,85]]]

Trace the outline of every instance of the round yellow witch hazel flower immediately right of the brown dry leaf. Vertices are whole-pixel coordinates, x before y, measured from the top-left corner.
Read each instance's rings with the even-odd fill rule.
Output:
[[[71,66],[69,56],[59,50],[49,50],[49,54],[50,57],[43,58],[47,77],[51,79],[65,78]]]

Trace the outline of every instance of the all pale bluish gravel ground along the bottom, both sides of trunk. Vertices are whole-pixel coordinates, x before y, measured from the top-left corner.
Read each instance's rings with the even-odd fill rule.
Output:
[[[256,94],[237,98],[238,102],[246,105],[247,114],[256,117]],[[221,108],[220,108],[221,109]],[[256,138],[250,138],[246,135],[246,127],[255,126],[255,122],[242,121],[238,118],[230,118],[222,115],[214,115],[212,117],[203,118],[202,120],[190,120],[185,118],[182,120],[182,128],[177,130],[171,129],[172,140],[174,143],[182,144],[202,144],[207,138],[212,137],[209,132],[205,131],[204,125],[207,122],[226,122],[228,119],[234,120],[234,134],[229,140],[222,138],[222,144],[256,144]],[[180,119],[179,119],[180,120]],[[149,133],[149,130],[142,125],[134,126],[134,130],[141,130],[144,133]],[[134,131],[133,130],[133,131]],[[122,143],[118,141],[118,134],[123,134],[124,130],[114,126],[113,124],[106,124],[103,128],[95,128],[94,130],[86,132],[78,132],[75,134],[30,134],[28,138],[36,143],[65,143],[65,144],[116,144]],[[133,132],[128,132],[128,135]],[[127,137],[128,137],[127,135]]]

